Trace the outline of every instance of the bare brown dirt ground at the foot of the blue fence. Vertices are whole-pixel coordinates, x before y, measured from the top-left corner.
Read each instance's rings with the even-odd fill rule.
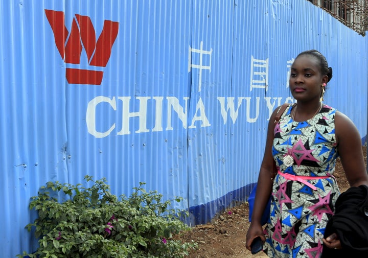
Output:
[[[363,147],[366,161],[366,148]],[[334,176],[340,191],[346,191],[349,183],[346,179],[341,162],[338,159]],[[219,218],[211,223],[197,225],[190,231],[180,233],[178,237],[183,241],[194,240],[198,243],[198,250],[190,252],[189,258],[248,258],[267,257],[263,252],[252,255],[245,248],[245,235],[249,227],[248,203],[229,208]]]

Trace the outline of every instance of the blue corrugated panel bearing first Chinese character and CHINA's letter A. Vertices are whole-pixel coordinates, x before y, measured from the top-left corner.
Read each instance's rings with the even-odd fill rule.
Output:
[[[224,208],[233,185],[231,124],[219,102],[232,96],[233,10],[231,1],[193,2],[188,178],[196,223]]]

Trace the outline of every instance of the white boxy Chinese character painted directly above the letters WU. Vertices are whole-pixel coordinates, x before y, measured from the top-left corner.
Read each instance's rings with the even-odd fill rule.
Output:
[[[266,88],[268,77],[268,58],[266,60],[255,59],[251,56],[250,66],[250,91],[253,88]]]

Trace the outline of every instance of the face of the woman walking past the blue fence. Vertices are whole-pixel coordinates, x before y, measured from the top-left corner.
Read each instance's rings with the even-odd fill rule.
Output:
[[[290,91],[298,101],[310,101],[321,96],[321,84],[327,83],[327,76],[320,73],[318,59],[312,55],[298,56],[291,65]]]

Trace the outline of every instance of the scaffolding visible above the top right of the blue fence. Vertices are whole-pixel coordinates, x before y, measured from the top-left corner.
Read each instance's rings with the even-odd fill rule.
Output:
[[[368,30],[368,0],[308,0],[342,24],[365,35]]]

